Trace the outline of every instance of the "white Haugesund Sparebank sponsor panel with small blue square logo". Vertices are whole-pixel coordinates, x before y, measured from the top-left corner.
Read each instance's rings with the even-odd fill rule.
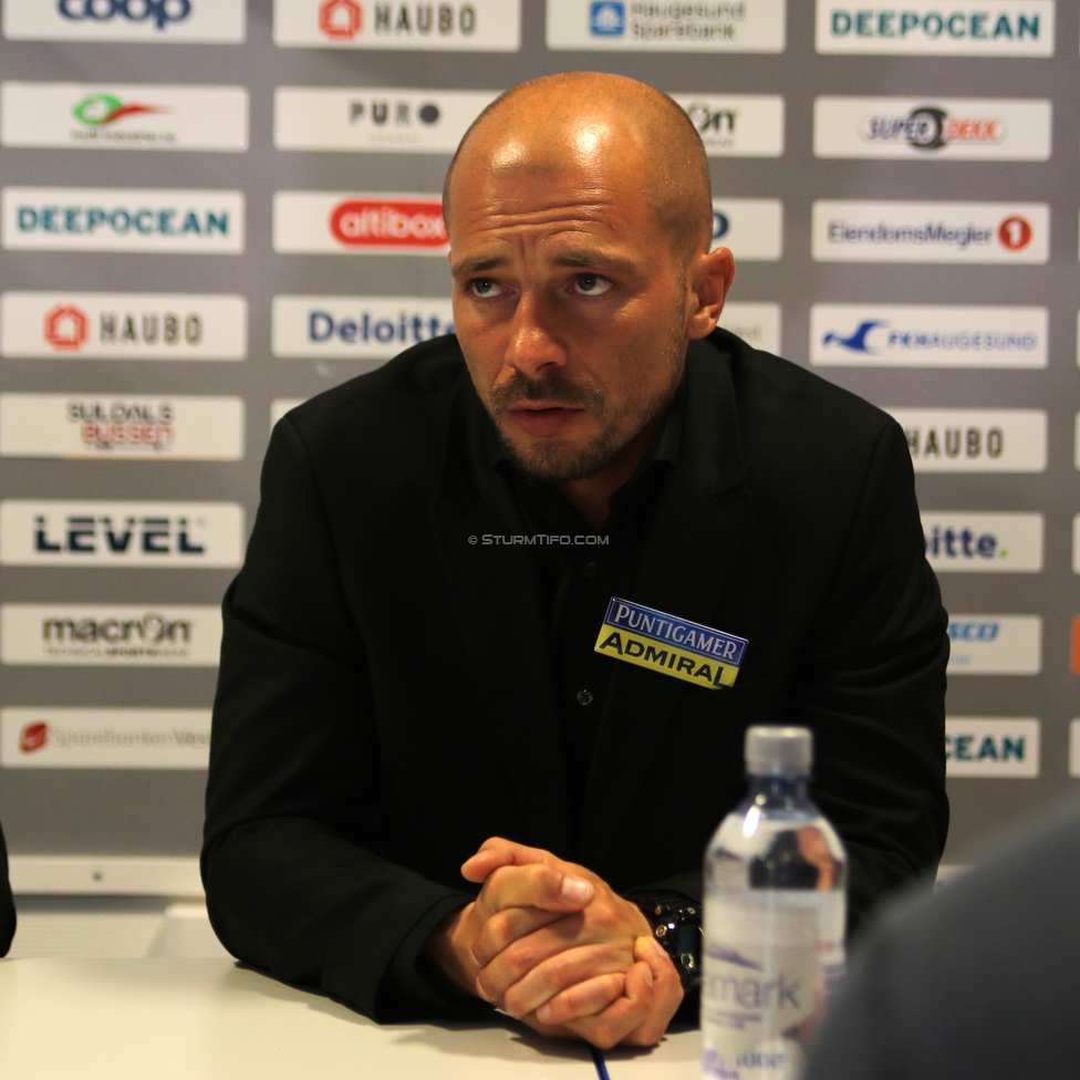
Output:
[[[548,48],[627,52],[783,52],[786,0],[642,3],[548,0]]]

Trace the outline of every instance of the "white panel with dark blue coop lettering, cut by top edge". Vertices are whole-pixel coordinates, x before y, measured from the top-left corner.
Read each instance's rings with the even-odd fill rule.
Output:
[[[3,35],[238,44],[245,39],[245,0],[4,0]]]

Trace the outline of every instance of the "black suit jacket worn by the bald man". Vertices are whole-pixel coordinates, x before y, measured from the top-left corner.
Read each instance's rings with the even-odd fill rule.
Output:
[[[747,656],[720,690],[613,661],[577,844],[533,557],[469,540],[521,530],[456,340],[276,426],[210,749],[204,880],[232,953],[381,1015],[399,946],[467,899],[491,835],[699,895],[751,721],[813,728],[856,915],[936,864],[946,615],[902,430],[724,331],[692,344],[686,394],[698,451],[629,599]]]

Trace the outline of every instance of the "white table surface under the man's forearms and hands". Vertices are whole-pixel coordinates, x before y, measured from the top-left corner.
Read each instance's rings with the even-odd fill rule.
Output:
[[[697,1080],[696,1031],[611,1080]],[[3,1080],[596,1080],[582,1045],[501,1025],[381,1027],[231,960],[0,962]]]

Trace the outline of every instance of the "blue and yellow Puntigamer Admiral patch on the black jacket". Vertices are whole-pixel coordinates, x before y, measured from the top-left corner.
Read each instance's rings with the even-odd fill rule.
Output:
[[[595,651],[696,686],[731,686],[748,642],[735,634],[612,596]]]

